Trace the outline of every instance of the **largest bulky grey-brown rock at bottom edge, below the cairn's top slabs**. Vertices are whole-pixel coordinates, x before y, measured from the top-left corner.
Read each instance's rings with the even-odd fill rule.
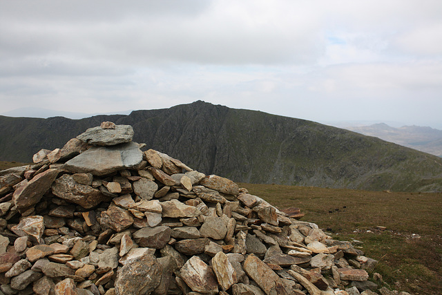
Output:
[[[115,294],[151,294],[160,285],[161,265],[153,256],[129,260],[117,272]]]

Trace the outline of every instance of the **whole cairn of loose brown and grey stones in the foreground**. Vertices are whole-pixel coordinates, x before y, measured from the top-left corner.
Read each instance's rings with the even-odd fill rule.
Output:
[[[132,137],[104,122],[0,172],[0,294],[376,294],[350,242]]]

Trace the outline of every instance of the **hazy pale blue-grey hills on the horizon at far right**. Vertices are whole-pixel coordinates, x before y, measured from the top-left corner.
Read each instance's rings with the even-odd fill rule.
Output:
[[[394,128],[383,123],[369,126],[349,126],[345,129],[363,135],[379,137],[387,142],[394,142],[442,157],[442,131],[438,129],[421,126]]]

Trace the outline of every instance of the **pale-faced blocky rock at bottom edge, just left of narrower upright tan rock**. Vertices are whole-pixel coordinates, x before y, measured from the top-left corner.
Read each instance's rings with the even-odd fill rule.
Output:
[[[192,256],[180,269],[180,278],[193,292],[218,294],[218,283],[213,270],[198,256]]]

